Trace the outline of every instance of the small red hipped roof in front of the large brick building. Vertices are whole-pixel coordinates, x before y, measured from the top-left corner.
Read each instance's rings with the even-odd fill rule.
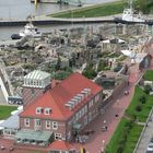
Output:
[[[56,140],[48,148],[51,151],[69,151],[70,149],[74,149],[73,145],[63,140]]]

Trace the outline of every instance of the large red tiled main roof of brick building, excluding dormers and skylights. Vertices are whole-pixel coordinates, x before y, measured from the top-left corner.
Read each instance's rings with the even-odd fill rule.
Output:
[[[102,87],[86,79],[82,74],[75,72],[54,89],[48,90],[42,97],[36,99],[33,104],[26,107],[26,109],[20,114],[23,117],[38,117],[38,118],[51,118],[51,119],[67,119],[74,111],[76,111],[82,105],[87,102],[87,98],[79,104],[73,110],[70,110],[64,106],[74,95],[81,93],[84,89],[91,89],[91,95],[87,98],[96,95],[102,91]],[[36,107],[50,107],[50,115],[37,115],[35,113]]]

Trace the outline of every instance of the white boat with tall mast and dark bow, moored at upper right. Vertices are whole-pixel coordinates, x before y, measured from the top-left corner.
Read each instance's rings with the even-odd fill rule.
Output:
[[[145,23],[145,19],[142,16],[141,12],[136,11],[132,8],[132,0],[129,1],[129,8],[123,10],[122,16],[115,17],[115,21],[122,23]]]

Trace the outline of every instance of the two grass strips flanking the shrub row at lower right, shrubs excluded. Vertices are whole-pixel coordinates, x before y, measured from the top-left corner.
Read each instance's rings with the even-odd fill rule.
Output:
[[[119,122],[117,130],[115,131],[114,136],[110,139],[109,144],[106,148],[106,153],[117,153],[117,149],[120,145],[120,141],[122,140],[122,136],[125,134],[127,123],[130,121],[122,118]],[[130,131],[127,133],[127,141],[123,146],[122,153],[132,153],[133,149],[137,144],[137,141],[141,134],[143,127],[133,125]]]

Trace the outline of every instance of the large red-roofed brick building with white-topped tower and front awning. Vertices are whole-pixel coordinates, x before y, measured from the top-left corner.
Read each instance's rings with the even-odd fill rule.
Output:
[[[102,91],[102,87],[78,72],[55,87],[51,87],[48,73],[34,71],[27,74],[16,142],[26,140],[27,143],[47,145],[54,140],[71,141],[74,131],[83,130],[98,115]]]

